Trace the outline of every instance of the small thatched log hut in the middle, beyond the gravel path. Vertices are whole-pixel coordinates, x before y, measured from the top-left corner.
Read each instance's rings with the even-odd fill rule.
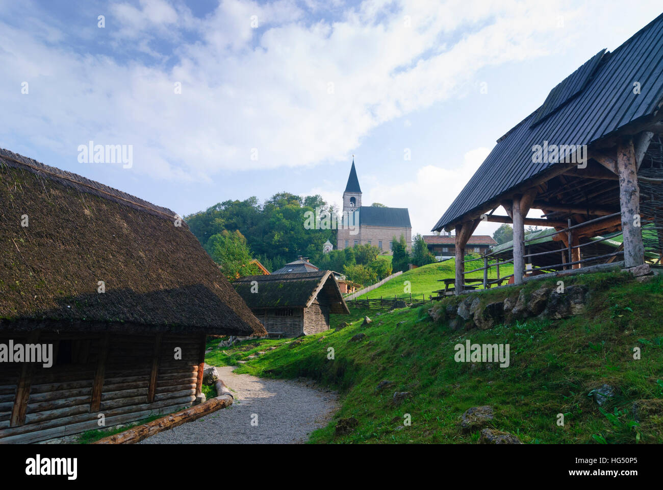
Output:
[[[330,313],[350,313],[330,270],[247,276],[233,286],[272,336],[320,333]]]

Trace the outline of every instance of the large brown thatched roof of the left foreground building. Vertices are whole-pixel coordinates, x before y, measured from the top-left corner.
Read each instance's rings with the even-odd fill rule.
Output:
[[[265,334],[175,220],[169,209],[0,149],[0,329]]]

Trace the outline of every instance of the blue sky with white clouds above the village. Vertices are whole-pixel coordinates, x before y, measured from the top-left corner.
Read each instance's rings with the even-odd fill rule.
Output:
[[[660,0],[0,0],[0,147],[180,216],[281,191],[340,206],[354,155],[363,205],[406,207],[429,234],[499,137],[660,13]],[[90,141],[127,159],[95,161]]]

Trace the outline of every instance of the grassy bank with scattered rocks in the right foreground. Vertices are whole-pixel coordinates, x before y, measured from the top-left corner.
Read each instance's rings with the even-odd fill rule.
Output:
[[[258,355],[238,372],[257,376],[306,376],[339,390],[342,406],[329,426],[312,434],[318,443],[473,443],[479,431],[463,432],[459,417],[473,406],[495,410],[492,426],[515,434],[525,444],[663,442],[663,278],[640,283],[627,274],[593,274],[566,280],[587,284],[584,314],[562,320],[528,320],[489,330],[450,331],[434,323],[428,305],[417,309],[352,310],[333,317],[340,330],[302,339],[248,341],[215,348],[206,361],[235,365]],[[540,287],[541,283],[538,283]],[[524,287],[534,287],[531,284]],[[504,291],[507,291],[506,293]],[[499,295],[518,288],[487,291]],[[369,315],[373,323],[362,326]],[[354,335],[366,335],[351,341]],[[509,343],[507,368],[489,363],[456,363],[454,346]],[[209,343],[210,347],[218,341]],[[269,347],[275,347],[271,350]],[[334,359],[328,359],[329,349]],[[641,359],[633,359],[633,348]],[[382,380],[392,382],[378,390]],[[591,396],[603,384],[617,396],[597,406]],[[394,392],[409,392],[402,404]],[[636,422],[633,406],[648,407]],[[564,414],[564,426],[556,424]],[[403,420],[409,414],[411,426]],[[357,427],[335,435],[340,419]]]

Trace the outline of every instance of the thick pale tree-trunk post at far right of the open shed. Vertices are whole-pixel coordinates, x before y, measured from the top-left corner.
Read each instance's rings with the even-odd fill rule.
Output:
[[[630,268],[644,264],[642,228],[634,224],[635,216],[640,215],[640,191],[632,137],[621,140],[617,146],[617,170],[624,235],[624,266]]]

